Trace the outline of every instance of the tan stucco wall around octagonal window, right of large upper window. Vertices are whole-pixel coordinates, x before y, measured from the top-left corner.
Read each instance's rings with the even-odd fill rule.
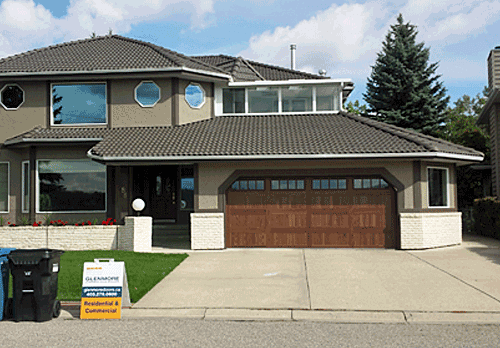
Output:
[[[160,87],[160,101],[153,107],[142,107],[135,101],[135,88],[142,81],[153,81]],[[113,80],[109,82],[112,127],[169,126],[172,124],[172,83],[170,79]]]

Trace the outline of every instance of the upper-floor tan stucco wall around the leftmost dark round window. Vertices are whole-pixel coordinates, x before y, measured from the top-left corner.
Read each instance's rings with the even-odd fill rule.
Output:
[[[15,82],[15,81],[13,81]],[[0,89],[10,83],[0,82]],[[24,103],[17,110],[5,110],[0,106],[0,143],[5,139],[47,125],[47,84],[38,82],[16,82],[24,91]]]

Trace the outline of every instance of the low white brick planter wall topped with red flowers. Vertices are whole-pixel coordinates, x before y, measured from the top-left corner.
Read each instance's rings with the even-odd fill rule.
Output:
[[[0,247],[17,249],[114,250],[118,226],[0,227]]]

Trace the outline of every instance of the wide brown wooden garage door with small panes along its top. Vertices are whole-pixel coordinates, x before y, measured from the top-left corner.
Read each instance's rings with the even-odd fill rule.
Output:
[[[380,177],[251,178],[226,197],[226,246],[394,248],[395,194]]]

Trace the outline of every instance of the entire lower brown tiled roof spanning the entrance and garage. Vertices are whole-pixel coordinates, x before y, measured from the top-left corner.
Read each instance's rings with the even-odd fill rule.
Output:
[[[250,158],[447,157],[480,161],[470,148],[339,114],[223,116],[180,126],[36,128],[6,145],[40,141],[97,142],[89,156],[102,161]],[[102,139],[102,141],[99,141]]]

